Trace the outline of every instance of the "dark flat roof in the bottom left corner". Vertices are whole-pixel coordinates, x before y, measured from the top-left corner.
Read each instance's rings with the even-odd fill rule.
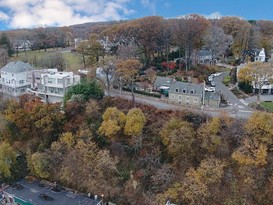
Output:
[[[27,182],[26,180],[21,180],[18,182],[21,184],[23,189],[16,189],[12,186],[4,190],[4,192],[13,195],[17,198],[20,198],[24,201],[31,202],[31,204],[39,205],[98,205],[99,201],[92,198],[88,198],[83,194],[75,194],[66,190],[61,192],[52,191],[52,187],[49,183],[42,183],[35,180],[32,182]],[[46,194],[47,196],[52,197],[54,200],[46,201],[39,197],[40,194]]]

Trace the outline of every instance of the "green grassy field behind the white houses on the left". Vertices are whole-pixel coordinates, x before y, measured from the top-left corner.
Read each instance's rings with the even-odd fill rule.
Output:
[[[47,55],[54,55],[54,53],[60,53],[63,51],[63,49],[47,49],[45,52],[44,50],[38,50],[35,51],[27,51],[26,54],[24,52],[20,52],[17,56],[17,54],[14,54],[13,60],[20,60],[24,62],[29,62],[30,64],[33,64],[33,62],[37,62],[43,57]],[[81,63],[81,55],[77,53],[72,52],[62,52],[63,58],[65,59],[66,64],[66,71],[77,71],[82,68]]]

